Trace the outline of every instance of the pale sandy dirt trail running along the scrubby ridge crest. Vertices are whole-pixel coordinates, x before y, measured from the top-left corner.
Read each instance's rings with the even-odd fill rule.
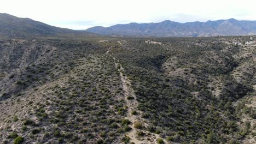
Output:
[[[118,41],[118,43],[120,43],[120,41]],[[123,45],[123,44],[120,44],[120,45]],[[130,139],[131,139],[130,142],[134,142],[136,144],[157,143],[157,139],[161,139],[158,134],[150,134],[146,130],[139,130],[139,129],[134,128],[134,124],[136,122],[141,122],[141,123],[143,123],[144,126],[147,127],[148,126],[148,121],[147,121],[147,119],[141,118],[139,116],[140,112],[137,109],[138,102],[136,100],[135,92],[134,92],[133,88],[131,87],[131,81],[127,78],[127,76],[125,76],[124,68],[122,67],[122,65],[120,64],[118,59],[116,59],[110,53],[110,49],[111,49],[111,47],[109,47],[109,49],[106,53],[109,53],[113,57],[114,63],[115,63],[115,68],[117,68],[118,71],[119,71],[120,79],[121,79],[123,89],[124,89],[124,97],[125,97],[124,99],[125,99],[126,106],[128,107],[127,108],[127,116],[125,118],[129,119],[129,121],[131,121],[131,124],[129,126],[132,129],[129,132],[126,133],[126,136],[130,137]],[[128,100],[127,97],[133,97],[134,99]],[[131,114],[132,111],[136,111],[136,112],[138,112],[138,114],[137,115],[132,115]],[[136,134],[138,131],[143,131],[146,135],[143,136],[143,137],[138,137],[137,134]],[[166,141],[165,141],[165,143],[166,143]]]

